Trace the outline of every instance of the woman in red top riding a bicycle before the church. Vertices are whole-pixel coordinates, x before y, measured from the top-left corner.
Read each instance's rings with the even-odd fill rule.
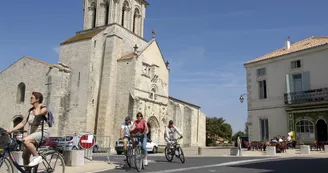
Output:
[[[147,166],[148,165],[148,160],[147,160],[147,134],[148,134],[148,126],[147,126],[147,122],[146,120],[143,119],[143,115],[141,112],[137,113],[137,120],[135,120],[133,122],[133,125],[130,129],[131,133],[141,133],[142,136],[138,137],[139,141],[142,144],[142,154],[144,155],[144,165]],[[134,138],[132,138],[132,145],[133,147],[135,147],[135,142],[134,142]]]

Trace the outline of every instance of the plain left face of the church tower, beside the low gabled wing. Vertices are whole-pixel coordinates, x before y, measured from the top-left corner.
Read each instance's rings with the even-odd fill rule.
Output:
[[[67,105],[69,109],[66,113],[66,124],[69,126],[65,126],[65,134],[87,131],[91,47],[92,40],[90,39],[64,44],[60,47],[59,61],[72,70],[67,91],[69,98],[66,99],[66,101],[69,100],[69,105]]]

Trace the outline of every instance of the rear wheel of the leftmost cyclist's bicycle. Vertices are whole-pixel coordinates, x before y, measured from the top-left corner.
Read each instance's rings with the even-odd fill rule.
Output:
[[[41,156],[43,161],[38,166],[38,172],[65,173],[65,161],[60,153],[49,151],[42,153]]]

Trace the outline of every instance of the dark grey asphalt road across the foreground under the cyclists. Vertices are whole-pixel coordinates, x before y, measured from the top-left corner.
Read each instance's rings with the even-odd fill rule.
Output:
[[[95,158],[102,160],[101,158]],[[124,163],[121,156],[112,156],[114,163]],[[327,173],[325,158],[269,158],[269,157],[186,157],[182,164],[178,158],[169,163],[165,156],[149,156],[148,173]],[[137,172],[134,168],[118,167],[99,173]]]

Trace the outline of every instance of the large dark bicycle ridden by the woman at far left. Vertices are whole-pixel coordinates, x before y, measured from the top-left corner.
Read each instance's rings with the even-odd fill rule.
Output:
[[[17,131],[19,131],[19,130],[17,130]],[[19,132],[21,132],[21,131],[19,131]],[[46,173],[53,173],[53,172],[55,172],[55,169],[52,168],[50,166],[50,164],[52,163],[51,159],[54,156],[56,156],[56,162],[57,162],[57,159],[59,159],[62,162],[62,166],[63,166],[62,169],[60,169],[60,170],[57,169],[56,173],[57,172],[65,173],[65,162],[59,152],[57,152],[55,150],[44,150],[44,151],[41,150],[40,151],[40,150],[38,150],[38,147],[37,147],[37,151],[43,159],[42,163],[44,165],[44,168],[43,168],[44,170],[42,169],[42,167],[41,167],[41,170],[39,169],[40,164],[38,164],[34,167],[28,167],[27,165],[19,165],[12,154],[13,148],[15,148],[17,145],[16,139],[13,138],[13,133],[7,133],[7,132],[5,132],[4,129],[0,128],[0,137],[1,138],[5,137],[3,134],[8,134],[8,135],[7,135],[7,139],[6,139],[7,140],[6,147],[3,149],[2,153],[0,153],[0,169],[4,168],[3,166],[5,166],[5,168],[7,168],[6,172],[8,172],[8,173],[13,173],[14,168],[18,169],[18,171],[21,173],[37,173],[39,171],[43,171]],[[9,156],[9,158],[7,156]],[[50,161],[47,161],[47,158],[49,156],[51,156],[51,159],[50,159]],[[54,166],[56,166],[56,163]],[[26,170],[23,169],[24,167]],[[2,173],[2,171],[1,171],[1,173]]]

